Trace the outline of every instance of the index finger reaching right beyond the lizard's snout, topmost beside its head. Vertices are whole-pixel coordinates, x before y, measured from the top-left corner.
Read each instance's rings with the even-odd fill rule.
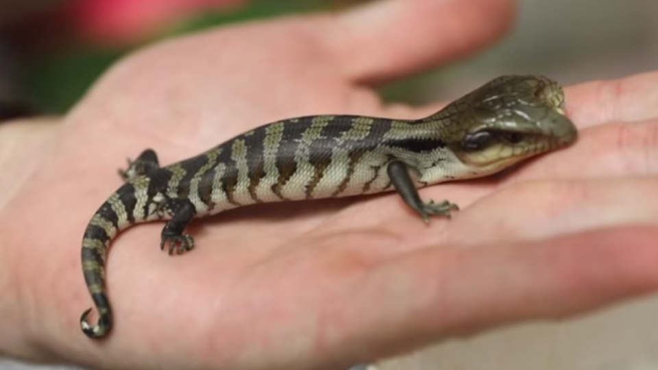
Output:
[[[565,93],[568,115],[580,127],[658,116],[658,72],[587,82]]]

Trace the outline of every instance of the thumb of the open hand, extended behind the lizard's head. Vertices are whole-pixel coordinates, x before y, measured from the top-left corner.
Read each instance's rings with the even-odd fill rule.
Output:
[[[341,14],[323,38],[359,82],[380,82],[461,58],[511,26],[513,0],[380,0]]]

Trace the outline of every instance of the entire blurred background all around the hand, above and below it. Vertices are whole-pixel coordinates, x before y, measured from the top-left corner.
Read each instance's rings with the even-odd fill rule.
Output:
[[[115,60],[145,44],[206,27],[338,11],[366,1],[0,0],[0,101],[16,102],[17,111],[27,109],[20,104],[26,102],[38,112],[62,114]],[[382,95],[423,103],[451,99],[504,73],[541,73],[572,84],[658,69],[658,0],[518,3],[515,28],[499,45],[383,86]],[[32,368],[0,359],[1,370]],[[579,319],[441,343],[381,368],[658,370],[658,297]]]

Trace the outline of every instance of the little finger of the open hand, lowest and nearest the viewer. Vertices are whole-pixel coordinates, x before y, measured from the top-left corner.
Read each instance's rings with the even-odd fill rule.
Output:
[[[360,349],[360,360],[369,360],[655,291],[657,239],[655,228],[626,227],[536,243],[415,251],[369,275],[346,305],[355,330],[338,347]]]

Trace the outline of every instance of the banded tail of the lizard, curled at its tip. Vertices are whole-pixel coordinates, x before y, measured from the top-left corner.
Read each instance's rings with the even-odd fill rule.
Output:
[[[90,338],[101,338],[112,329],[112,308],[106,293],[105,266],[110,242],[121,230],[134,223],[132,209],[135,204],[134,188],[124,184],[96,211],[89,221],[82,239],[82,271],[87,289],[98,312],[98,321],[92,325],[89,308],[80,317],[80,328]]]

